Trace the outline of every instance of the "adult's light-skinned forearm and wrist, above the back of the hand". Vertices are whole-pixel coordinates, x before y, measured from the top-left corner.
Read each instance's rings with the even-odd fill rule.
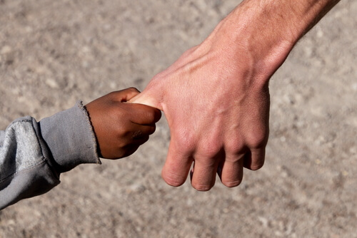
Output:
[[[218,24],[206,43],[230,58],[244,55],[266,81],[296,42],[338,1],[245,0]]]

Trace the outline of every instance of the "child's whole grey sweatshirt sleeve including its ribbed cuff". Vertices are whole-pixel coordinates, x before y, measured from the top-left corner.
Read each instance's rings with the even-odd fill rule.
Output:
[[[0,131],[0,209],[41,195],[81,163],[100,163],[89,116],[81,104],[39,123],[14,120]]]

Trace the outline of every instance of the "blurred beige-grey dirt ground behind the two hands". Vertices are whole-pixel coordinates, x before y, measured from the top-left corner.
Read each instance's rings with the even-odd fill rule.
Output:
[[[0,0],[0,128],[135,86],[200,43],[237,0]],[[357,1],[271,80],[266,165],[209,192],[161,180],[163,117],[129,158],[81,165],[0,212],[0,237],[357,237]]]

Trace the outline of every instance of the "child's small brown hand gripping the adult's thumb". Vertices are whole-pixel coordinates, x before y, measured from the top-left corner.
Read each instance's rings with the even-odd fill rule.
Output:
[[[99,157],[129,156],[154,133],[161,111],[147,105],[126,103],[139,93],[136,88],[127,88],[86,105],[99,144]]]

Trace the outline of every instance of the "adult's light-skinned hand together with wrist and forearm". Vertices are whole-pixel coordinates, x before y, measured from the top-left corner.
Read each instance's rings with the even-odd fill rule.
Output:
[[[200,45],[154,76],[130,102],[163,110],[171,142],[162,177],[210,190],[216,173],[238,186],[243,167],[263,166],[268,81],[293,46],[337,0],[246,0]]]

